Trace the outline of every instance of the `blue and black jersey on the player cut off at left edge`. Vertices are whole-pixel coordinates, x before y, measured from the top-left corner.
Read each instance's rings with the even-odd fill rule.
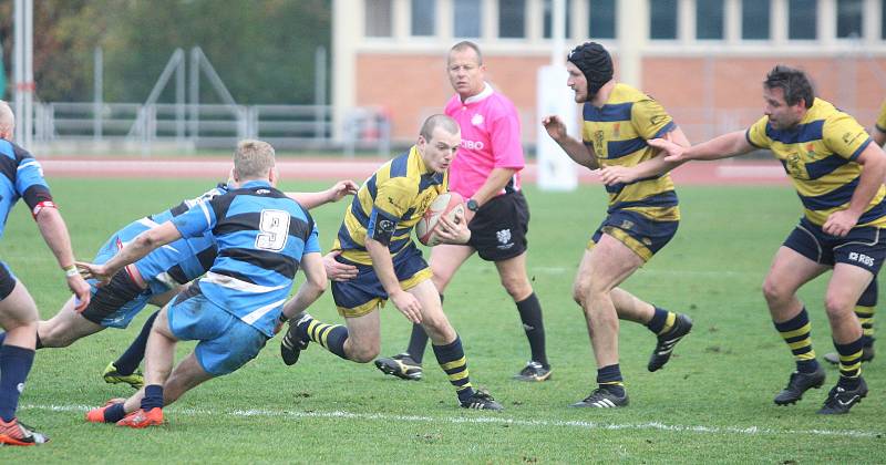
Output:
[[[9,211],[19,198],[31,211],[41,202],[51,202],[52,194],[43,179],[40,163],[28,151],[0,138],[0,237],[6,229]]]

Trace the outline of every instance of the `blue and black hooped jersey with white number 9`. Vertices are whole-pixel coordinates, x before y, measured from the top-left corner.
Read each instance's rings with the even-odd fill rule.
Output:
[[[198,283],[213,303],[268,337],[305,254],[320,252],[308,210],[267,182],[198,203],[172,219],[183,238],[208,231],[218,256]]]

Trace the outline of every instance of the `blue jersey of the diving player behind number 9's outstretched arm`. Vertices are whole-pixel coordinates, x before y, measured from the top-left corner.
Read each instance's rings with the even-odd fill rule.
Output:
[[[228,187],[219,184],[199,197],[184,200],[169,209],[133,221],[117,232],[117,237],[123,241],[120,246],[122,247],[125,242],[154,226],[172,220],[195,205],[208,202],[227,192]],[[142,278],[147,281],[152,290],[162,292],[165,289],[185,285],[203,276],[213,266],[216,254],[215,238],[210,232],[207,232],[202,236],[178,239],[157,248],[136,261],[135,268],[142,275]]]

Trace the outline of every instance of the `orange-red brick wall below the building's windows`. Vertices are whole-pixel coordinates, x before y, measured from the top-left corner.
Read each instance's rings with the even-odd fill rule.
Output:
[[[529,126],[538,124],[536,70],[549,59],[487,55],[485,62],[487,81],[517,106],[524,142],[533,144],[535,131]],[[870,126],[886,99],[886,82],[879,75],[879,70],[886,70],[883,58],[646,56],[642,90],[671,112],[690,140],[701,141],[745,127],[762,115],[761,83],[776,63],[806,70],[818,96],[851,112],[865,126]],[[442,54],[358,54],[354,82],[357,104],[384,108],[398,143],[414,140],[421,122],[442,111],[453,94]]]

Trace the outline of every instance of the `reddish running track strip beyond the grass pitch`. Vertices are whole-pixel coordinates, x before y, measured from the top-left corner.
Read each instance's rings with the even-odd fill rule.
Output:
[[[354,179],[369,177],[384,161],[381,158],[280,158],[277,167],[284,179]],[[40,161],[47,177],[150,177],[220,179],[230,169],[230,158],[44,158]],[[578,168],[578,167],[577,167]],[[579,182],[597,184],[599,177],[579,168]],[[530,163],[523,180],[535,183],[537,168]],[[672,173],[678,185],[786,185],[784,170],[775,161],[693,162]]]

